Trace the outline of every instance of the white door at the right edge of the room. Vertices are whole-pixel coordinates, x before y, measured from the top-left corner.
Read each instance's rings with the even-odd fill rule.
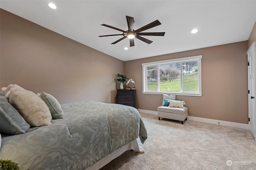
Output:
[[[248,117],[249,129],[256,141],[256,96],[255,96],[255,67],[256,67],[255,42],[247,51],[248,58]]]

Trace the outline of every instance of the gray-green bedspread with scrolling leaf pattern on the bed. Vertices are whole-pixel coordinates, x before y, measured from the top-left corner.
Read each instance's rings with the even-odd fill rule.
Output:
[[[27,170],[84,170],[147,131],[134,107],[100,102],[62,104],[64,119],[2,137],[0,158]]]

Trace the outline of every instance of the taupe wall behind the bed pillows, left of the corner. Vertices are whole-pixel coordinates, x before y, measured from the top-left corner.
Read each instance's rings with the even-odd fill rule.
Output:
[[[124,62],[0,10],[0,87],[18,84],[60,103],[114,103]]]

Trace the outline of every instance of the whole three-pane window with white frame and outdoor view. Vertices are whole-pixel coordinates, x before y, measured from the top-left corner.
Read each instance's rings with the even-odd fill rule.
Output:
[[[202,55],[142,64],[143,94],[202,96]]]

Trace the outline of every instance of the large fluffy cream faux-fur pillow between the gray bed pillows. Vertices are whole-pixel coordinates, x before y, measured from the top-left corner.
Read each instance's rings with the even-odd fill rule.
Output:
[[[22,88],[11,88],[9,102],[31,126],[52,124],[52,115],[48,106],[35,93]]]

